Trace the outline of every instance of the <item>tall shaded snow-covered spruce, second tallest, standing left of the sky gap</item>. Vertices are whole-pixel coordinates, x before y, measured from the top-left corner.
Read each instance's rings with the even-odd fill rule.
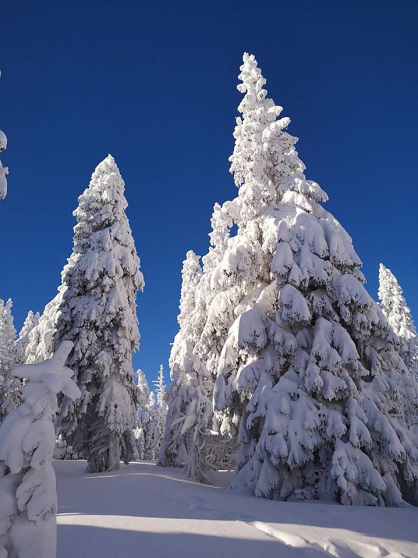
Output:
[[[144,287],[125,214],[125,184],[107,156],[79,197],[71,264],[53,345],[74,342],[68,365],[82,396],[63,397],[59,432],[88,461],[87,472],[116,469],[134,457],[137,390],[132,351],[139,345],[136,297]]]

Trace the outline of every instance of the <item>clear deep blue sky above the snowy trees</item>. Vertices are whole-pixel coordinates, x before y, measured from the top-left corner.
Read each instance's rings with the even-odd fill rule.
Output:
[[[168,372],[181,262],[207,251],[214,202],[236,194],[243,51],[291,117],[369,292],[384,262],[418,320],[417,20],[416,1],[3,1],[0,297],[17,329],[56,294],[77,197],[111,153],[146,280],[134,365]]]

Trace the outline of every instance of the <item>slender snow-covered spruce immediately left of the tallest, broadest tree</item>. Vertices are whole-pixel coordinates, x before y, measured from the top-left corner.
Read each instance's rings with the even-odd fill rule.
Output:
[[[216,257],[215,252],[219,250],[215,236],[217,230],[223,227],[220,225],[221,211],[221,206],[215,204],[210,234],[213,248],[206,257],[207,263],[210,257]],[[206,473],[217,465],[220,440],[212,433],[213,381],[205,365],[207,355],[199,356],[195,351],[205,323],[206,303],[211,292],[209,275],[205,278],[204,286],[201,285],[201,278],[199,256],[190,250],[183,262],[178,315],[180,331],[174,339],[169,359],[169,410],[158,464],[184,467],[188,476],[205,481]]]

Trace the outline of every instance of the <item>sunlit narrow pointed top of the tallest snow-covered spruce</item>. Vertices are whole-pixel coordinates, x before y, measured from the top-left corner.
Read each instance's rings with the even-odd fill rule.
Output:
[[[279,118],[283,108],[267,97],[265,79],[254,54],[244,54],[238,78],[238,91],[244,93],[233,132],[235,146],[229,158],[229,171],[240,188],[241,223],[257,218],[272,203],[284,199],[286,191],[305,195],[317,202],[326,201],[326,193],[304,176],[305,166],[297,156],[297,137],[286,132],[291,120]],[[284,200],[285,201],[285,200]],[[288,200],[286,200],[288,201]]]

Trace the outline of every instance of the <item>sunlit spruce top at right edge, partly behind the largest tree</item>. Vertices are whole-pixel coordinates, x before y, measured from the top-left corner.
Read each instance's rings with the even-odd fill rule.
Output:
[[[389,326],[402,342],[401,356],[410,372],[418,377],[418,337],[412,314],[398,280],[383,264],[379,266],[380,307]]]

